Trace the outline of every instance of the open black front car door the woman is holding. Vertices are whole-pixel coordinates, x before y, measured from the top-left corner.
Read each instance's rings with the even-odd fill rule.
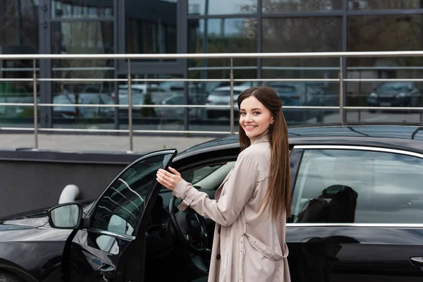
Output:
[[[159,185],[175,149],[146,154],[104,190],[63,252],[63,281],[142,281],[145,231]]]

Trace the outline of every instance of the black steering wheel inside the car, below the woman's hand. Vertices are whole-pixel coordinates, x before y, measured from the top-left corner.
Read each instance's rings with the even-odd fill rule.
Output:
[[[176,237],[190,250],[204,252],[209,245],[204,217],[189,207],[175,213],[175,200],[176,197],[172,195],[169,200],[169,215]]]

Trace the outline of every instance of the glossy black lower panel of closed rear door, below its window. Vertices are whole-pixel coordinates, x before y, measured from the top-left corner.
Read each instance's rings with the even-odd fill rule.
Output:
[[[423,228],[302,227],[288,224],[292,281],[421,281],[410,257],[423,254]]]

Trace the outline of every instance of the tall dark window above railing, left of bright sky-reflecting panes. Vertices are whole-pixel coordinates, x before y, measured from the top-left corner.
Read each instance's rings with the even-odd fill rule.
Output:
[[[178,53],[176,5],[176,1],[126,0],[125,53]]]

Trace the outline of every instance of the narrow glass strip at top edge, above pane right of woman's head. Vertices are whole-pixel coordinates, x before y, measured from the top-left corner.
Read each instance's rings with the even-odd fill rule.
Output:
[[[263,0],[264,13],[336,11],[342,0]]]

